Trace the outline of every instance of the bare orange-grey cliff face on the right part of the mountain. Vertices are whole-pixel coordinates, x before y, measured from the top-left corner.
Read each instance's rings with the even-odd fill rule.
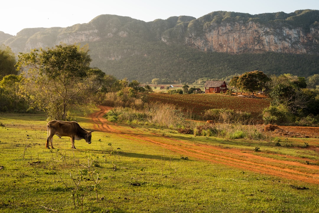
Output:
[[[254,22],[211,24],[203,30],[202,36],[188,31],[185,44],[202,51],[223,53],[281,52],[316,53],[313,45],[318,45],[318,28],[305,33],[300,27],[269,28]]]

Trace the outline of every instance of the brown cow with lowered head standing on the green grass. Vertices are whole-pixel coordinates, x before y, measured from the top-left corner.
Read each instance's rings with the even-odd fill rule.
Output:
[[[75,149],[74,140],[85,139],[86,143],[88,144],[91,143],[91,137],[92,137],[91,132],[93,131],[86,131],[85,129],[80,127],[78,122],[53,120],[47,124],[47,127],[48,127],[48,138],[47,138],[46,148],[48,149],[49,149],[49,141],[51,142],[51,148],[54,149],[52,146],[54,135],[57,135],[60,138],[62,136],[70,137],[73,149]]]

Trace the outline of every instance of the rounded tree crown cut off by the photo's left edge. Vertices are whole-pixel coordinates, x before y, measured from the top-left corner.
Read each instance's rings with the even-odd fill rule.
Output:
[[[16,57],[9,46],[0,46],[0,81],[6,75],[17,75]]]

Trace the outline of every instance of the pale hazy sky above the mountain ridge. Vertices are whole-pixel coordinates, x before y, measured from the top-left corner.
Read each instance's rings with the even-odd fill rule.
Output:
[[[202,17],[213,11],[249,14],[319,10],[318,0],[14,0],[0,3],[0,31],[16,35],[24,28],[67,27],[101,14],[153,21],[171,16]]]

